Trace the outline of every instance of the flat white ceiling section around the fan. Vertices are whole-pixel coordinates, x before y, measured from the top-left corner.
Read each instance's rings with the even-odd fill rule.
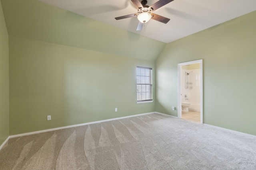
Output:
[[[219,23],[256,10],[256,0],[174,0],[154,11],[170,18],[166,24],[150,20],[136,31],[136,17],[115,20],[115,17],[137,13],[130,0],[39,0],[53,6],[102,21],[158,41],[169,43]],[[148,0],[148,6],[157,0]]]

